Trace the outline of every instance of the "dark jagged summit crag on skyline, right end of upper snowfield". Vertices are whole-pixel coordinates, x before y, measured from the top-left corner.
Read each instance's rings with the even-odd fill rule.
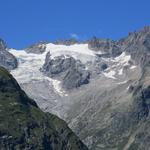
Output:
[[[88,42],[88,45],[90,49],[102,51],[112,57],[116,57],[122,52],[118,43],[109,39],[98,39],[94,37]]]

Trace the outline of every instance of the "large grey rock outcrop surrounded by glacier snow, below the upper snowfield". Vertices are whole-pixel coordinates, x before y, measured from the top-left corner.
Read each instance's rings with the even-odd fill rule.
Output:
[[[51,59],[50,53],[47,53],[41,71],[50,77],[59,77],[66,89],[80,87],[89,83],[90,79],[90,73],[85,70],[85,66],[71,56],[62,55]]]

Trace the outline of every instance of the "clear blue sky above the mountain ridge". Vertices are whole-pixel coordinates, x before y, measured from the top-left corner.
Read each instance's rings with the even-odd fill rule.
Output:
[[[150,0],[0,0],[0,37],[9,47],[98,36],[119,39],[150,25]]]

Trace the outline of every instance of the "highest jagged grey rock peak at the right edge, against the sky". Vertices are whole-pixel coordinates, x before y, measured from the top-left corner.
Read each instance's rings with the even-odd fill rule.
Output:
[[[150,64],[150,27],[130,33],[127,38],[121,39],[119,44],[142,68]]]

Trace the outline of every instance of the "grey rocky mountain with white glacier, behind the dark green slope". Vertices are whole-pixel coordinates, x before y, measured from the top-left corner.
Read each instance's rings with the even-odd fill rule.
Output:
[[[64,40],[9,52],[20,86],[89,149],[149,149],[149,26],[118,41]]]

